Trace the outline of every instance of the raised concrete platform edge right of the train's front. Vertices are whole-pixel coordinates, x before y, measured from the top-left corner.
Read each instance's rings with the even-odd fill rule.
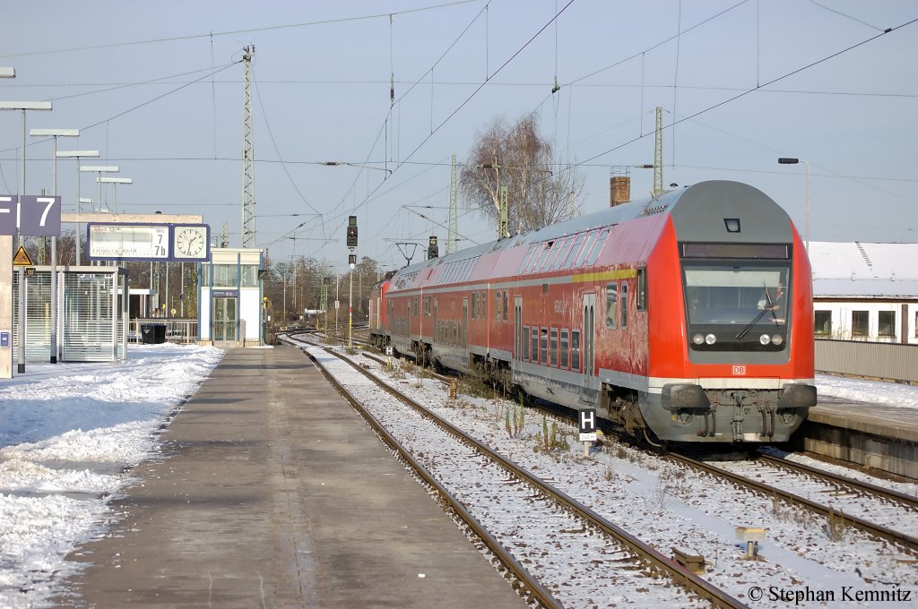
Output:
[[[833,459],[918,479],[918,409],[820,400],[791,442]]]

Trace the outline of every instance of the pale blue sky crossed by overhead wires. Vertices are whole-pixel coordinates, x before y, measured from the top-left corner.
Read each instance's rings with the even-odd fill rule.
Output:
[[[34,0],[4,8],[0,67],[17,76],[0,80],[0,100],[51,101],[28,128],[80,128],[59,149],[98,149],[84,164],[133,180],[107,186],[104,207],[200,214],[239,247],[247,46],[255,243],[272,260],[343,271],[351,215],[358,256],[384,268],[405,263],[398,243],[443,244],[451,158],[463,163],[498,118],[537,117],[553,171],[585,178],[584,212],[609,204],[613,167],[630,168],[640,198],[656,106],[665,185],[750,183],[802,234],[809,182],[812,240],[918,241],[909,0]],[[21,139],[20,113],[0,113],[11,194]],[[50,140],[28,137],[27,194],[50,192],[51,156]],[[809,181],[778,157],[808,161]],[[76,173],[60,161],[64,211]],[[98,199],[95,174],[80,189]],[[494,238],[490,219],[458,206],[460,248]]]

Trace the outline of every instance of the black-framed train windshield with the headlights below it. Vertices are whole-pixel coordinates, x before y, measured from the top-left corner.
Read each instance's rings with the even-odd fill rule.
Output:
[[[789,263],[784,261],[685,263],[683,280],[692,349],[784,349],[789,274]]]

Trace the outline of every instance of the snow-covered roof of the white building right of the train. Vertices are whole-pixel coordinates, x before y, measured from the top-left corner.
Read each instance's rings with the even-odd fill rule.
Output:
[[[810,243],[816,298],[918,299],[918,243]]]

